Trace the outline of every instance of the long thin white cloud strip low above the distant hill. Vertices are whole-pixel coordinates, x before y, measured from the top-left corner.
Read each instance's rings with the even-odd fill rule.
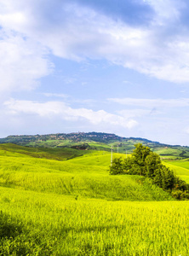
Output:
[[[35,114],[45,119],[59,118],[76,121],[84,119],[93,125],[117,125],[132,129],[138,123],[134,119],[125,119],[121,115],[107,113],[104,110],[93,111],[87,108],[71,108],[65,102],[32,102],[10,99],[4,103],[8,114]]]

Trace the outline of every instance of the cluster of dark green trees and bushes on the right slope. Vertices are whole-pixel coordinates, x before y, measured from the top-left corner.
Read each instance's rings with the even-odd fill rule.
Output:
[[[130,174],[148,177],[152,183],[171,193],[176,199],[189,199],[189,184],[176,177],[174,172],[162,164],[158,154],[141,143],[135,145],[134,152],[127,158],[115,158],[110,166],[110,174]]]

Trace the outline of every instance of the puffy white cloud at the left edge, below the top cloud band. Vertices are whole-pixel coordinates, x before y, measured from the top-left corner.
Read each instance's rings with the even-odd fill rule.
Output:
[[[31,90],[53,66],[45,49],[14,32],[0,32],[0,91]]]

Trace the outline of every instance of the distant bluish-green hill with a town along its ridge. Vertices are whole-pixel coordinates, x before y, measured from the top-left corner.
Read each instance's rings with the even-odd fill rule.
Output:
[[[14,135],[0,139],[0,143],[14,143],[34,148],[72,148],[77,150],[106,150],[113,145],[114,152],[131,153],[136,143],[142,143],[163,159],[189,158],[189,147],[153,142],[140,137],[119,137],[105,132],[72,132],[46,135]]]

